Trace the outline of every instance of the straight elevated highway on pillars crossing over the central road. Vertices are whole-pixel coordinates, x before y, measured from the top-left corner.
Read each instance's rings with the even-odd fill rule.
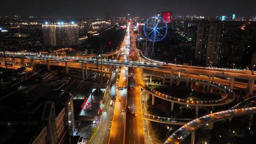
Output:
[[[46,61],[47,68],[50,68],[50,62],[62,62],[65,63],[66,69],[68,69],[68,63],[78,63],[77,68],[82,68],[82,65],[86,64],[101,64],[99,59],[95,58],[82,58],[82,57],[71,57],[71,56],[55,56],[55,55],[23,55],[23,54],[13,54],[6,53],[5,56],[7,58],[11,58],[12,61],[16,61],[16,59],[21,59],[22,65],[25,66],[25,60],[30,60],[32,68],[35,66],[34,61]],[[4,54],[0,53],[1,62],[3,61]],[[80,64],[79,64],[80,63]],[[218,68],[204,68],[204,67],[195,67],[195,66],[184,66],[184,65],[174,65],[174,64],[165,64],[165,63],[149,63],[149,62],[135,62],[135,61],[123,61],[123,60],[108,60],[103,59],[102,65],[104,66],[126,66],[133,68],[142,68],[143,70],[149,70],[154,72],[165,72],[166,75],[169,76],[170,83],[173,82],[174,73],[182,73],[186,75],[186,77],[193,77],[196,79],[213,79],[214,77],[222,77],[229,78],[227,80],[215,79],[215,82],[225,83],[225,85],[229,85],[231,89],[233,89],[234,83],[236,87],[242,87],[247,89],[247,95],[252,95],[253,90],[255,89],[255,80],[256,75],[252,73],[248,73],[245,70],[230,70],[230,69],[218,69]],[[68,73],[68,71],[67,71]],[[239,83],[234,82],[235,79],[245,79],[248,80],[247,83]]]

